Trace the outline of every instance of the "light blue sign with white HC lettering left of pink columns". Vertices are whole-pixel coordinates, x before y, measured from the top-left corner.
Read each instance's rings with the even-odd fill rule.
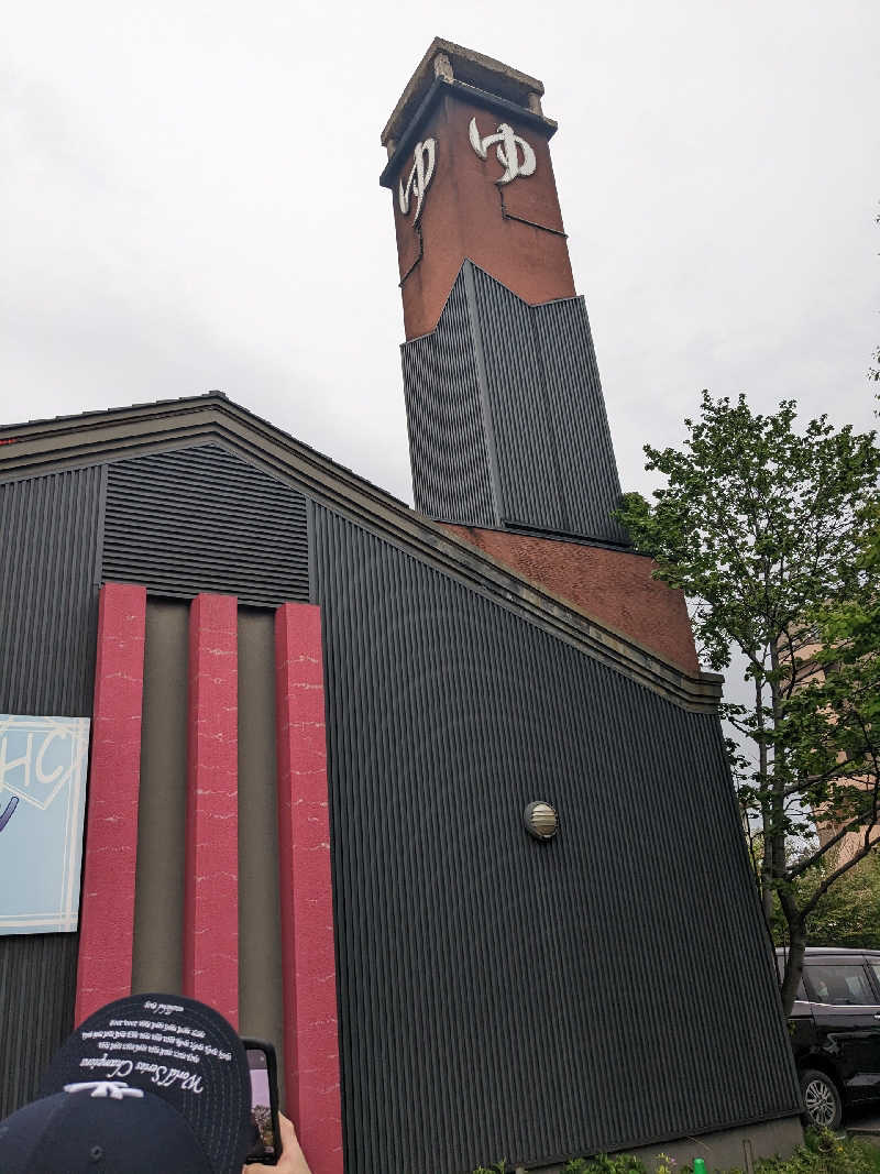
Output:
[[[0,935],[76,929],[88,717],[0,714]]]

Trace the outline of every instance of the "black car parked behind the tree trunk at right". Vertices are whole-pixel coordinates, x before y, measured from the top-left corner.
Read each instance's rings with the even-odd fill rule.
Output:
[[[808,946],[788,1024],[812,1125],[837,1129],[845,1107],[880,1099],[880,950]]]

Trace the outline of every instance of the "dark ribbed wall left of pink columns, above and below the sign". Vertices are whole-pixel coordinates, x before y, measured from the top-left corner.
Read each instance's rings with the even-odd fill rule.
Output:
[[[102,470],[0,486],[0,713],[92,713]],[[73,1026],[75,933],[0,937],[0,1118]]]

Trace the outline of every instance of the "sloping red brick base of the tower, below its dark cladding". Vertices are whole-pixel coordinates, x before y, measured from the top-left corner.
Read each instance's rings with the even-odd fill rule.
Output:
[[[692,676],[698,674],[684,595],[651,579],[650,559],[628,551],[474,526],[445,528],[677,668]]]

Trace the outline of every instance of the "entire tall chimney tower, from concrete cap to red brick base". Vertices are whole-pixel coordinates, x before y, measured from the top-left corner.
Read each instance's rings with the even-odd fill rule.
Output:
[[[417,508],[697,673],[621,486],[536,77],[435,38],[381,134]]]

